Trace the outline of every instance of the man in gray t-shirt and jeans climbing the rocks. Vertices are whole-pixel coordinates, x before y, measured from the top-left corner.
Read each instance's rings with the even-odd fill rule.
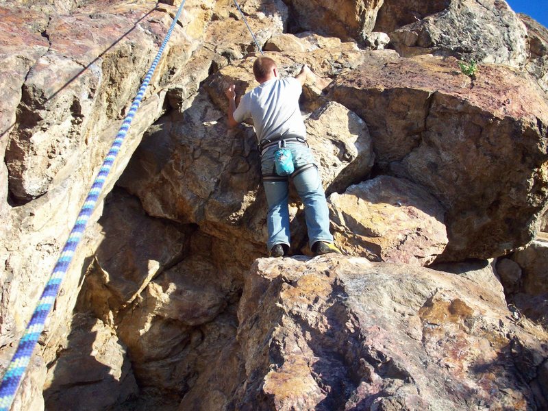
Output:
[[[253,63],[253,75],[260,85],[240,99],[238,108],[234,84],[225,91],[229,126],[235,127],[251,117],[259,140],[262,180],[269,204],[266,247],[272,257],[286,255],[290,247],[288,175],[305,207],[312,252],[316,255],[340,252],[329,233],[325,192],[306,143],[306,128],[299,109],[299,96],[310,73],[304,65],[295,78],[282,79],[273,59],[259,57]]]

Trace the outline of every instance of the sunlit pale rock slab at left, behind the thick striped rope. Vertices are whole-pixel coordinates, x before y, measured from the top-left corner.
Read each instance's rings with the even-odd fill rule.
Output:
[[[12,1],[0,7],[3,358],[14,351],[92,178],[174,14],[169,6],[155,8],[150,1],[137,5],[27,3]],[[164,110],[166,84],[173,90],[197,90],[207,77],[212,64],[206,58],[208,48],[192,53],[203,44],[204,26],[214,14],[213,5],[191,5],[181,25],[175,27],[105,192],[121,175],[142,134]],[[275,31],[276,26],[270,23],[264,21]],[[93,223],[101,211],[99,206],[90,219],[88,233],[55,303],[46,329],[45,362],[54,360],[58,348],[66,345],[82,277],[98,247],[99,227]],[[37,377],[29,379],[32,384],[45,373],[44,362],[40,366]],[[30,407],[31,399],[32,409],[39,409],[36,401],[40,397],[32,393],[41,387],[24,385],[28,389],[20,393],[27,401],[23,409]]]

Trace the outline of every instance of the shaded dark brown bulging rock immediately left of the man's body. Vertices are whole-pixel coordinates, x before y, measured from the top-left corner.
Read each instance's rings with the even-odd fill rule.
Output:
[[[227,138],[223,112],[206,93],[185,113],[151,129],[120,184],[151,216],[243,231],[260,182],[256,138],[250,132]]]

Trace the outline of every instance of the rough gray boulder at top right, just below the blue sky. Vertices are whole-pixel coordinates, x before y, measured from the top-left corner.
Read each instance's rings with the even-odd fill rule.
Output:
[[[392,3],[396,1],[391,1],[390,5]],[[393,23],[390,18],[386,27],[377,23],[376,29],[388,32],[391,44],[400,55],[410,57],[432,53],[477,63],[525,66],[527,31],[506,2],[451,0],[424,3],[416,12],[408,2],[393,5],[392,8],[403,9],[395,15],[397,20],[408,22],[394,31],[390,31],[390,23]]]

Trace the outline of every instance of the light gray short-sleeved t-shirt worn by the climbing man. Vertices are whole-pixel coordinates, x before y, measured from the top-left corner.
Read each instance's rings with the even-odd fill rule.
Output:
[[[276,136],[306,138],[299,109],[302,90],[299,80],[292,77],[264,82],[240,99],[234,120],[241,123],[251,117],[259,142]]]

